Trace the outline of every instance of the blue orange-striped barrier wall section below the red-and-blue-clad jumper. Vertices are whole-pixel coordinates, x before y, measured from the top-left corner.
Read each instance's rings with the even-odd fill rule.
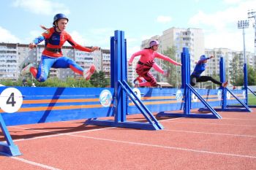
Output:
[[[0,93],[10,87],[1,87]],[[102,90],[113,88],[23,88],[23,104],[18,112],[0,113],[6,125],[47,123],[64,120],[79,120],[113,115],[113,107],[103,107],[99,101]],[[112,100],[113,101],[113,100]]]

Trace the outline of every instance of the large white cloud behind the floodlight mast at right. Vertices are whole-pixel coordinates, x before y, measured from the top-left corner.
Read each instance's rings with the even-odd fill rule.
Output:
[[[225,2],[229,2],[225,0]],[[256,1],[236,1],[236,5],[211,14],[199,11],[189,20],[189,25],[203,28],[206,47],[227,47],[242,50],[242,30],[237,28],[238,20],[247,19],[247,10],[256,7]],[[246,50],[254,52],[254,31],[252,23],[246,29]]]

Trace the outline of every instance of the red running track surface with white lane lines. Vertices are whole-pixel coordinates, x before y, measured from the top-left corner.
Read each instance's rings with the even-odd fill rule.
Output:
[[[220,120],[162,117],[162,131],[84,126],[84,120],[10,126],[23,155],[0,155],[0,169],[256,169],[253,111],[219,112]]]

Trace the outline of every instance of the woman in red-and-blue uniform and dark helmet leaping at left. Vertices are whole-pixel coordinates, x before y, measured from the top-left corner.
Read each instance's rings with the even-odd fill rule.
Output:
[[[41,26],[46,31],[33,42],[29,44],[29,48],[37,47],[37,44],[45,40],[45,50],[42,52],[42,58],[36,69],[32,64],[26,66],[21,74],[31,72],[33,77],[39,82],[45,82],[48,77],[50,68],[70,68],[73,72],[83,75],[86,80],[89,80],[91,75],[94,74],[95,66],[92,64],[89,70],[85,71],[78,63],[75,63],[71,58],[62,55],[61,47],[64,42],[69,42],[75,49],[92,53],[94,50],[99,50],[99,47],[83,47],[78,45],[72,37],[65,31],[69,19],[64,14],[56,14],[53,18],[53,27],[45,28]]]

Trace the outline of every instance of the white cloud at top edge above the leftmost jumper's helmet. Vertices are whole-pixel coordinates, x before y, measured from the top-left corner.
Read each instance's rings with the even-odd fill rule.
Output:
[[[56,13],[69,14],[69,8],[64,4],[50,1],[50,0],[34,0],[33,2],[27,0],[16,0],[13,2],[14,7],[21,7],[26,11],[41,14],[41,15],[54,15]]]

